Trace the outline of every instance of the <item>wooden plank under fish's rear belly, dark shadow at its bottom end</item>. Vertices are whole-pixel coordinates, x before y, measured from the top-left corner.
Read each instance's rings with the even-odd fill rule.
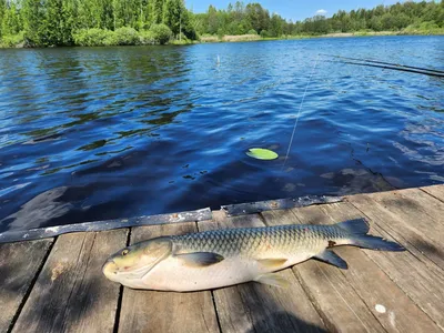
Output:
[[[226,218],[213,212],[214,222],[200,222],[199,230],[264,226],[258,214]],[[291,270],[280,272],[291,282],[279,289],[255,282],[213,291],[222,332],[325,332]]]

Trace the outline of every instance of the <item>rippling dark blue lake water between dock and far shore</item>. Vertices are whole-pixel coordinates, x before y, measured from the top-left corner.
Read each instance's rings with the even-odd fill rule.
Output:
[[[0,231],[443,183],[444,80],[320,52],[444,70],[444,37],[1,50]]]

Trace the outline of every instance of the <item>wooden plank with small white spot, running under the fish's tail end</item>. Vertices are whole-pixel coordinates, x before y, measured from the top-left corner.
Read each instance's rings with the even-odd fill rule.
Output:
[[[312,221],[312,211],[322,214],[314,221],[316,224],[332,224],[355,218],[346,211],[335,211],[336,216],[332,216],[321,206],[294,212],[307,223]],[[349,287],[359,294],[387,332],[441,332],[440,327],[364,253],[364,250],[347,246],[337,248],[334,252],[347,262],[349,269],[333,269],[342,273]],[[379,312],[377,305],[383,305],[386,309],[385,313]]]

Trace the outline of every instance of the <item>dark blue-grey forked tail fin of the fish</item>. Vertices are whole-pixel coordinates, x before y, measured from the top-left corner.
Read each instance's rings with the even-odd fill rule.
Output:
[[[395,242],[367,234],[370,226],[364,219],[345,221],[337,223],[336,226],[350,233],[349,245],[379,251],[405,251],[402,245]]]

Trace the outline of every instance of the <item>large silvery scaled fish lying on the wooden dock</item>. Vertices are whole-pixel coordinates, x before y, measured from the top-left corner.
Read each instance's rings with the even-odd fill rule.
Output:
[[[352,245],[404,251],[367,234],[364,219],[330,225],[287,224],[235,228],[150,239],[111,255],[102,272],[131,289],[193,292],[255,281],[279,287],[289,282],[278,271],[311,258],[347,269],[331,248]]]

